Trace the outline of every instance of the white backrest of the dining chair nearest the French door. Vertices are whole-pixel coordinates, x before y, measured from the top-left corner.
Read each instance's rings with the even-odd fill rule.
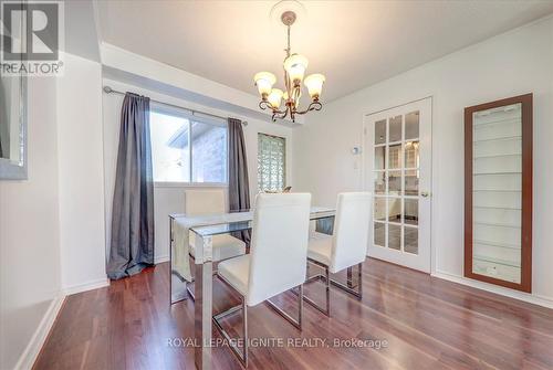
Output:
[[[338,194],[330,271],[336,273],[365,261],[371,221],[371,193]]]

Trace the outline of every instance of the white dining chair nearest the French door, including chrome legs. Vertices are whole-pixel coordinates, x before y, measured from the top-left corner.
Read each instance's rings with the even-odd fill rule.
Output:
[[[307,282],[322,279],[325,282],[326,307],[319,306],[313,299],[304,296],[305,302],[331,315],[331,283],[352,294],[357,299],[363,297],[363,262],[367,256],[368,231],[371,221],[371,193],[348,192],[338,194],[336,216],[332,235],[312,232],[309,241],[307,263],[324,269],[324,275],[307,277]],[[353,282],[353,267],[357,266],[356,288]],[[347,269],[347,282],[343,284],[330,277]]]

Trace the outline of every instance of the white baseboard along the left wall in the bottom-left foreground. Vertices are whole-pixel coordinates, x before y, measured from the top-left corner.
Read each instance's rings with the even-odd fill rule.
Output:
[[[54,325],[55,318],[58,317],[58,314],[60,313],[64,300],[64,295],[61,295],[52,300],[46,309],[46,313],[42,317],[39,327],[31,337],[31,340],[23,350],[23,353],[21,353],[18,363],[15,363],[15,370],[28,370],[33,367],[34,361],[39,356],[42,346],[44,346],[50,329],[52,329],[52,326]]]

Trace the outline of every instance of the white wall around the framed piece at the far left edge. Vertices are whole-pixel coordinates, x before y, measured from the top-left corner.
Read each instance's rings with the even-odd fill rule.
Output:
[[[0,181],[0,369],[25,348],[60,295],[55,78],[29,81],[29,180]],[[32,363],[31,363],[32,364]]]

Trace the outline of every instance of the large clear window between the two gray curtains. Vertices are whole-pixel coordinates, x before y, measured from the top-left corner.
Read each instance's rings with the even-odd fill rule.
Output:
[[[223,120],[161,108],[149,117],[154,181],[227,182]]]

